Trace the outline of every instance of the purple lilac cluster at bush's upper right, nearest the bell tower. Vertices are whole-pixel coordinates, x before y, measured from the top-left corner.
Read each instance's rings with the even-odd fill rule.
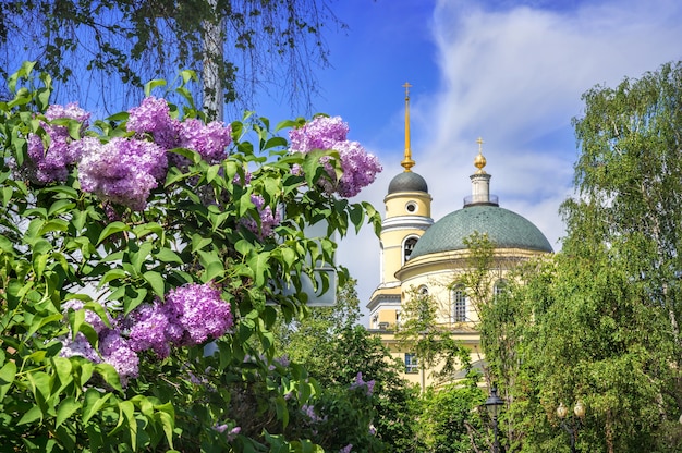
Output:
[[[310,152],[314,149],[334,149],[339,151],[343,175],[336,181],[336,174],[329,163],[325,168],[332,182],[322,182],[327,193],[337,192],[342,197],[353,197],[363,187],[372,184],[382,168],[376,156],[368,154],[357,142],[346,139],[349,126],[340,117],[316,117],[303,127],[289,132],[292,152]],[[300,169],[294,169],[300,172]]]

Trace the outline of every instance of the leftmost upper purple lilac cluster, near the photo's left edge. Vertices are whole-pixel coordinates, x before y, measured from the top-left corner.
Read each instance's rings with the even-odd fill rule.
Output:
[[[82,128],[87,127],[90,113],[78,107],[76,102],[64,106],[53,105],[45,112],[48,121],[57,119],[70,119],[82,123]],[[69,128],[64,125],[40,122],[40,126],[47,133],[50,144],[45,149],[42,138],[37,134],[28,135],[28,157],[31,158],[31,173],[41,184],[54,181],[66,181],[69,166],[81,158],[81,149],[77,142],[69,135]]]

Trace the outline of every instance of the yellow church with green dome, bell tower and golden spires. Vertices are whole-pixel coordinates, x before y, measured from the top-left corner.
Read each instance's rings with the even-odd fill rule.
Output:
[[[409,85],[405,84],[405,88]],[[415,173],[410,149],[410,96],[405,93],[405,155],[403,171],[395,175],[383,198],[385,215],[380,233],[380,282],[372,294],[369,331],[380,335],[394,357],[404,363],[403,377],[422,389],[434,383],[433,371],[423,369],[412,351],[403,351],[395,339],[402,307],[411,294],[427,294],[436,304],[437,323],[471,351],[475,367],[483,367],[477,330],[478,315],[466,289],[453,286],[458,272],[463,272],[470,254],[466,240],[474,233],[487,234],[495,246],[495,262],[519,262],[551,254],[547,237],[531,221],[500,207],[490,194],[491,175],[485,171],[483,140],[478,139],[474,158],[471,195],[463,207],[435,221],[431,218],[431,195],[426,180]],[[456,186],[456,182],[453,184]],[[491,292],[501,291],[510,267],[497,266],[489,279]],[[463,377],[463,375],[461,376]],[[454,380],[458,377],[453,377]]]

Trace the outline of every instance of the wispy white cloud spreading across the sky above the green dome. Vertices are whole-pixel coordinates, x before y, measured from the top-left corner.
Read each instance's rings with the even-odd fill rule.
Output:
[[[613,0],[552,11],[439,0],[433,34],[440,87],[414,99],[411,111],[415,171],[428,182],[435,219],[460,209],[470,195],[480,135],[500,205],[533,221],[559,249],[564,226],[558,209],[572,193],[577,151],[571,119],[581,114],[581,95],[681,59],[682,3]],[[382,212],[398,171],[387,169],[361,197]],[[368,301],[379,279],[378,240],[366,229],[342,243],[340,256]]]

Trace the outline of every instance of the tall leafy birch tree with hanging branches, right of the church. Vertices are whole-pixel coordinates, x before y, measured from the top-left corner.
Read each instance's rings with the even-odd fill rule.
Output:
[[[556,409],[579,400],[579,451],[680,451],[682,64],[583,99],[562,252],[520,270],[482,327],[508,451],[569,451]]]

